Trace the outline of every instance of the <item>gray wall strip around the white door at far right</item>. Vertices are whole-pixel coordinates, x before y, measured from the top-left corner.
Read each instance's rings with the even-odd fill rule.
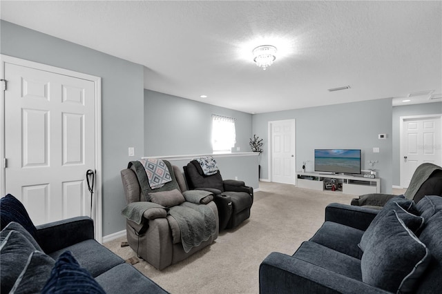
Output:
[[[412,115],[442,114],[442,102],[393,107],[393,185],[401,186],[400,119]]]

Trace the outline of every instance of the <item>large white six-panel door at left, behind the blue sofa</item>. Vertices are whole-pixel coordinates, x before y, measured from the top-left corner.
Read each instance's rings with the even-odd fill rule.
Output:
[[[101,185],[95,182],[91,211],[86,184],[86,170],[99,170],[99,78],[1,57],[7,81],[1,112],[3,195],[10,193],[23,202],[35,224],[93,217],[101,239]]]

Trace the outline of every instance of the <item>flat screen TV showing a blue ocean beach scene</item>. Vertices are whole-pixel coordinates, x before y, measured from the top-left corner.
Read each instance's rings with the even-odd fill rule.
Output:
[[[361,174],[361,149],[315,149],[315,171]]]

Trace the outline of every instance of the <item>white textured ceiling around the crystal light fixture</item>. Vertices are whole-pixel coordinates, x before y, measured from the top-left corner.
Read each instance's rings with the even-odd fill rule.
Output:
[[[142,64],[144,88],[249,113],[442,92],[441,1],[0,5],[1,19]],[[251,54],[264,44],[278,48],[267,70]]]

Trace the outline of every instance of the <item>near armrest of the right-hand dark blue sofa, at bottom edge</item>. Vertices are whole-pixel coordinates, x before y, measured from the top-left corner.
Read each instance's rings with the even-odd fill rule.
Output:
[[[260,264],[260,294],[389,293],[361,281],[282,253],[270,253]]]

